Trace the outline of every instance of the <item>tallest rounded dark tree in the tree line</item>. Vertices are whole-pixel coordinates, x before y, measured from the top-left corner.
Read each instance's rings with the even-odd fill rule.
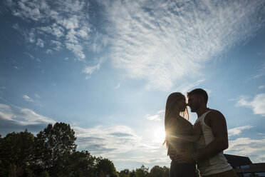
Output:
[[[50,123],[35,139],[37,173],[48,171],[50,176],[68,176],[71,168],[66,164],[76,151],[76,136],[66,123]]]

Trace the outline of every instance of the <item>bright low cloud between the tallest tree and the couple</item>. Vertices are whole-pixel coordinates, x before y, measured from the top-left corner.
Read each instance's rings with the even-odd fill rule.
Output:
[[[128,126],[95,126],[93,128],[73,126],[72,128],[76,132],[78,149],[111,158],[114,162],[166,163],[169,161],[167,150],[161,142],[154,143],[142,139]]]

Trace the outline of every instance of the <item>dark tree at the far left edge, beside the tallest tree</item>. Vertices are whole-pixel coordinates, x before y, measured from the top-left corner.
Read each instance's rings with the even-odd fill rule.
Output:
[[[29,176],[34,136],[25,130],[8,133],[0,141],[0,176]]]

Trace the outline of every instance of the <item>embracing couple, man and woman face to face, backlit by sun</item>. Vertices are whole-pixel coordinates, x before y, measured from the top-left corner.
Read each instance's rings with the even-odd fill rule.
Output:
[[[171,93],[165,108],[165,143],[172,162],[170,177],[237,177],[223,151],[228,148],[227,123],[217,110],[207,108],[203,89]],[[187,111],[197,113],[192,126]],[[186,117],[186,118],[184,118]]]

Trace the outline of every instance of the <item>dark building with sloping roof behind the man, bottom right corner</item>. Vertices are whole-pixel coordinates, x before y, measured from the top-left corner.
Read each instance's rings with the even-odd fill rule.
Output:
[[[265,163],[252,163],[248,157],[224,154],[237,176],[265,177]]]

